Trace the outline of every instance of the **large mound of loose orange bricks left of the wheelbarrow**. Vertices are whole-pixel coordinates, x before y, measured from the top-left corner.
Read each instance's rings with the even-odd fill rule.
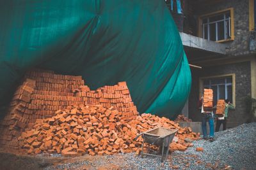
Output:
[[[22,132],[19,141],[27,153],[111,155],[131,152],[136,134],[113,106],[81,104],[58,110],[54,117],[38,119],[33,129]]]

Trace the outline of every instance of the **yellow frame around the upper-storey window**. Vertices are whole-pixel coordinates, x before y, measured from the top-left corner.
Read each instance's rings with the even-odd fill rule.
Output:
[[[225,10],[220,10],[220,11],[215,11],[212,13],[206,13],[204,15],[200,15],[198,17],[198,36],[201,38],[204,38],[204,34],[203,34],[203,19],[204,18],[214,17],[216,15],[220,15],[221,13],[226,13],[228,11],[230,12],[230,38],[222,39],[222,40],[214,41],[214,42],[223,43],[226,41],[233,41],[235,38],[235,36],[234,36],[234,8],[227,8]]]

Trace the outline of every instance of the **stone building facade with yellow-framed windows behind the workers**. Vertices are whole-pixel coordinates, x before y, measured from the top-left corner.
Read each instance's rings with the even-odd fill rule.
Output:
[[[218,99],[229,99],[236,106],[236,110],[229,112],[227,127],[253,121],[256,1],[167,0],[166,3],[171,7],[189,64],[202,67],[191,67],[192,85],[185,115],[193,121],[201,120],[198,99],[204,88],[211,88],[214,104]]]

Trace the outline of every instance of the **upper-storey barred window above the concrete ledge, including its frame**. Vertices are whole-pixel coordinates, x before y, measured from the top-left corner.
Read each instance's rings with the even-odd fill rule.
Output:
[[[234,39],[234,10],[209,13],[199,17],[199,34],[211,41],[228,41]]]

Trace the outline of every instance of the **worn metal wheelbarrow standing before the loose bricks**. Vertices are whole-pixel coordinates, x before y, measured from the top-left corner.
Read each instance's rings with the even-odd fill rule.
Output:
[[[138,139],[140,136],[143,138],[143,143],[141,146],[141,157],[143,155],[150,155],[154,157],[161,157],[161,162],[165,161],[168,157],[168,152],[169,152],[169,146],[170,143],[172,143],[172,140],[178,130],[177,129],[167,129],[164,127],[156,127],[155,129],[151,129],[147,132],[142,132],[136,136],[134,141]],[[159,153],[162,150],[161,156],[160,155],[154,155],[150,153],[144,153],[143,148],[144,148],[144,143],[148,143],[148,148],[147,152],[150,150],[150,145],[156,145],[159,146]],[[164,154],[164,148],[166,148],[166,154]],[[165,159],[164,159],[165,155]]]

